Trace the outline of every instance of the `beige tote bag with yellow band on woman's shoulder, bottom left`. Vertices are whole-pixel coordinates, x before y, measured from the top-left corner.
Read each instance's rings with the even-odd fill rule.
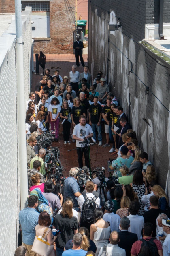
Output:
[[[46,228],[42,238],[44,238],[48,228]],[[48,242],[42,240],[38,236],[35,236],[33,247],[31,251],[41,255],[41,256],[49,256],[54,255],[54,245],[50,245]]]

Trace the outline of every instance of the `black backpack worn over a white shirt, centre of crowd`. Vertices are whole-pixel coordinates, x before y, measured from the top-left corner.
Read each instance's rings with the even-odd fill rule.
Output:
[[[83,195],[85,201],[82,206],[82,214],[81,219],[83,222],[88,222],[92,224],[94,222],[94,210],[96,208],[96,199],[97,197],[94,196],[93,198],[88,198],[87,195]]]

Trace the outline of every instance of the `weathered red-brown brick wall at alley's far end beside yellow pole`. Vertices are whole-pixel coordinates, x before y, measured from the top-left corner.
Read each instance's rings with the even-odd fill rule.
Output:
[[[73,53],[73,30],[75,30],[75,1],[50,1],[50,38],[35,40],[34,53]]]

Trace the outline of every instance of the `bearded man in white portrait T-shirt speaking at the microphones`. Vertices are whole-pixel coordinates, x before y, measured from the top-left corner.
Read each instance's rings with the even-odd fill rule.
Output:
[[[93,130],[90,125],[86,124],[86,117],[84,115],[80,115],[79,122],[80,123],[78,125],[75,125],[73,130],[73,139],[76,140],[78,164],[79,168],[83,167],[84,153],[85,165],[87,166],[87,168],[89,168],[89,138],[93,136]]]

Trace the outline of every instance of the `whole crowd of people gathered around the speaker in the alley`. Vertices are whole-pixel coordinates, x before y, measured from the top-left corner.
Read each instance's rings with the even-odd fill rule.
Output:
[[[170,255],[168,197],[102,75],[100,71],[92,82],[88,66],[81,74],[72,66],[69,78],[62,79],[58,70],[52,77],[46,69],[29,94],[25,120],[29,197],[19,213],[23,245],[15,256]],[[36,138],[50,132],[58,142],[60,120],[64,144],[76,142],[79,166],[70,169],[63,194],[56,195],[53,181],[46,179],[46,149],[37,147]],[[109,177],[101,171],[88,176],[91,137],[103,150],[111,145]],[[80,191],[77,178],[83,154],[89,179]]]

